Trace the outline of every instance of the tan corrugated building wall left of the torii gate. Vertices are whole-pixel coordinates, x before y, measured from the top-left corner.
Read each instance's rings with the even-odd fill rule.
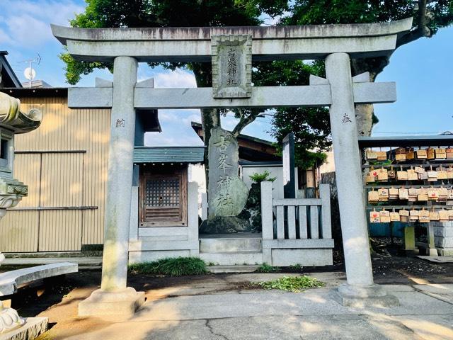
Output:
[[[29,194],[0,220],[0,251],[102,244],[110,110],[70,110],[66,96],[20,99],[42,110],[42,124],[15,137],[14,178]]]

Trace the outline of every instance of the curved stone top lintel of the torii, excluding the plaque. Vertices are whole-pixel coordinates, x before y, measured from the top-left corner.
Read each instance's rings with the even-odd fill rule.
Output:
[[[69,28],[52,33],[77,60],[112,61],[130,56],[139,62],[210,62],[211,36],[247,34],[253,60],[317,59],[336,52],[354,57],[389,55],[412,18],[387,23],[313,26],[191,28]]]

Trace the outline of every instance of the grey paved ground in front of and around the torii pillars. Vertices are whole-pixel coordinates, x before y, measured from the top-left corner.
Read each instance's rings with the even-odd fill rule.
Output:
[[[452,283],[414,278],[386,285],[401,305],[382,309],[334,302],[331,290],[343,282],[343,273],[312,273],[326,288],[298,294],[241,288],[246,281],[282,275],[296,274],[223,274],[161,288],[151,284],[143,287],[147,302],[123,322],[77,318],[77,303],[96,285],[77,288],[39,314],[57,322],[41,339],[453,339]]]

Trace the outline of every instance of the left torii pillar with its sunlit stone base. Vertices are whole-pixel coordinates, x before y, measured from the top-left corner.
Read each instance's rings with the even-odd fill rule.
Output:
[[[79,303],[79,316],[121,314],[131,317],[144,303],[144,292],[137,293],[127,287],[137,60],[115,57],[113,67],[102,282],[101,289]]]

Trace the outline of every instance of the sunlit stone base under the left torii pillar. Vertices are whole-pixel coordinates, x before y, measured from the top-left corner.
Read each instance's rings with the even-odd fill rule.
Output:
[[[98,289],[79,303],[79,317],[132,317],[143,304],[144,292],[137,292],[134,288],[113,292]]]

